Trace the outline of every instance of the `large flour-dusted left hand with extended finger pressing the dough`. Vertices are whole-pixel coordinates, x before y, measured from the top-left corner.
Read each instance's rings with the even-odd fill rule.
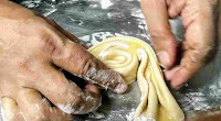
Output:
[[[54,21],[1,0],[0,97],[6,118],[64,121],[72,120],[71,114],[96,109],[101,103],[98,88],[78,88],[61,68],[117,94],[127,89],[119,74],[92,56]],[[48,99],[57,108],[52,108]]]

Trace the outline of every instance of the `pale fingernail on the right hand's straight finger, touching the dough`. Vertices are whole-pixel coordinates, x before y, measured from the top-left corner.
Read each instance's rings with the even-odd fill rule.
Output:
[[[165,51],[158,52],[157,56],[158,56],[160,66],[162,66],[164,68],[168,68],[170,66],[170,58],[167,52]]]

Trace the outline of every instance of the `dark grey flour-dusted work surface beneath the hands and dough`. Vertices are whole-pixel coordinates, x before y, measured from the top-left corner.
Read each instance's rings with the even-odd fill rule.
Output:
[[[137,0],[23,0],[21,4],[54,19],[88,46],[114,35],[135,36],[149,43]],[[177,40],[182,40],[181,20],[171,20],[170,23]],[[178,91],[170,89],[187,117],[221,108],[220,63],[219,51],[215,59],[190,79],[186,87]],[[103,90],[102,107],[96,112],[80,116],[77,119],[133,121],[139,96],[137,82],[129,86],[125,95]]]

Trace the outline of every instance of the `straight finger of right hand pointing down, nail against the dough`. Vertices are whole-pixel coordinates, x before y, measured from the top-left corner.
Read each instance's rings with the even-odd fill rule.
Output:
[[[170,31],[169,16],[165,0],[141,0],[148,32],[160,64],[170,68],[176,62],[176,42]]]

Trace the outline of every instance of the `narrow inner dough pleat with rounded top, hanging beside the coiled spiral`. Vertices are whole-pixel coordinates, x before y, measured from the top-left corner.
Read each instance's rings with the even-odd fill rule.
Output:
[[[147,121],[157,119],[158,112],[158,99],[155,86],[150,80],[145,77],[145,72],[148,65],[148,58],[145,50],[138,48],[137,55],[140,61],[140,65],[137,72],[137,81],[141,91],[140,105],[135,111],[135,121]],[[148,101],[147,98],[148,97]],[[145,108],[147,107],[147,108]]]

